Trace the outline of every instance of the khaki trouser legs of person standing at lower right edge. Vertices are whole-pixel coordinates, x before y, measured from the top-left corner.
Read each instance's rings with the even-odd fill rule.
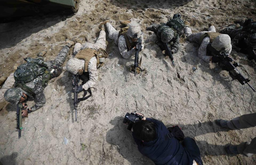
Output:
[[[227,126],[232,130],[250,128],[256,126],[256,113],[246,114],[236,117],[227,122]],[[251,156],[256,154],[256,137],[251,142],[243,142],[237,146],[239,154]]]

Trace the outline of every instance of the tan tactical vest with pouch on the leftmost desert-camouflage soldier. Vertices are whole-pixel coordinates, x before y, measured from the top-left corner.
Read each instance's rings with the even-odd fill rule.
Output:
[[[94,56],[96,56],[96,58],[97,58],[97,68],[99,68],[104,65],[105,58],[109,57],[109,54],[102,48],[99,48],[98,51],[91,49],[91,48],[86,48],[86,49],[79,51],[75,55],[75,58],[85,61],[85,67],[84,67],[83,71],[88,72],[89,61]]]

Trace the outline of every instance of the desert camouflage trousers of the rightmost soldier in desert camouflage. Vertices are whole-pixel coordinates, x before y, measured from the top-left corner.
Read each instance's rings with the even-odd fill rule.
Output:
[[[187,37],[187,41],[189,42],[198,43],[200,36],[206,32],[216,32],[215,27],[210,26],[208,31],[201,31],[199,33],[193,33],[193,34],[189,26],[184,27],[184,33]]]

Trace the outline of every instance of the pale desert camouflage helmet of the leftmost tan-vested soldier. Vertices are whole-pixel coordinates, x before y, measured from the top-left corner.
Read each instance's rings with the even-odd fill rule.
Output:
[[[83,69],[85,66],[85,61],[79,60],[77,58],[71,58],[67,61],[67,70],[72,74],[77,74],[78,70]]]

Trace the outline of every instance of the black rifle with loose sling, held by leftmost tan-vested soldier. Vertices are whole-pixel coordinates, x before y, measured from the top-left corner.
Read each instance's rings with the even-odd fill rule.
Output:
[[[75,121],[77,121],[77,104],[80,101],[86,100],[88,99],[92,94],[91,94],[91,90],[90,88],[88,89],[88,92],[90,93],[89,96],[86,96],[87,91],[84,92],[83,97],[82,98],[78,98],[78,83],[79,83],[79,77],[78,75],[72,75],[72,86],[74,87],[73,89],[73,93],[74,93],[74,109],[75,109]],[[86,96],[86,97],[85,97]]]

